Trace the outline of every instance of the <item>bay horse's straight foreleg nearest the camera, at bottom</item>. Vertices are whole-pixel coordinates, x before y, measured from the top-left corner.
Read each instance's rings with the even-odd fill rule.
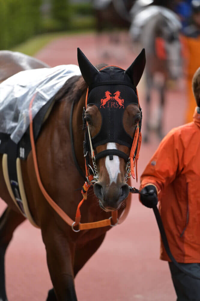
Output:
[[[47,265],[57,300],[77,301],[72,264],[74,244],[69,243],[66,234],[56,228],[55,221],[52,221],[49,227],[47,225],[45,228],[41,227],[41,230],[47,252]],[[52,298],[54,294],[50,291],[47,300],[54,300]]]

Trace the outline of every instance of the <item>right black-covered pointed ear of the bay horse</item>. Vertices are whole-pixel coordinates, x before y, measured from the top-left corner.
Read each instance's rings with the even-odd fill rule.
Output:
[[[132,83],[137,87],[146,64],[145,49],[143,48],[141,53],[136,57],[135,61],[129,68],[126,69],[125,73],[131,78]]]

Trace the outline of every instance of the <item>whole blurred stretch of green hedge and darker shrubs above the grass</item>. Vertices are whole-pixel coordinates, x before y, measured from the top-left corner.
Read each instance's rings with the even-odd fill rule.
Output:
[[[44,0],[0,0],[0,50],[12,48],[38,33],[94,28],[91,3],[48,1],[50,13],[42,15]]]

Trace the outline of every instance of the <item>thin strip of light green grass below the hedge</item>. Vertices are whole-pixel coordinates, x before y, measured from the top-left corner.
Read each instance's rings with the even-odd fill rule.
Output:
[[[19,51],[24,54],[33,56],[35,53],[37,53],[40,49],[42,49],[45,45],[47,45],[49,42],[51,42],[53,39],[57,39],[63,36],[72,35],[72,34],[78,34],[78,33],[89,33],[93,32],[93,30],[71,30],[68,32],[59,32],[59,33],[44,33],[41,35],[37,35],[32,37],[31,39],[28,39],[26,42],[23,42],[10,50],[12,51]]]

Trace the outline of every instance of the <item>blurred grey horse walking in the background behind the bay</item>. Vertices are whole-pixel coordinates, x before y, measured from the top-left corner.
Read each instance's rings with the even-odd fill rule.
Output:
[[[138,1],[140,2],[140,0]],[[137,2],[136,4],[137,5]],[[181,23],[173,11],[167,8],[150,5],[138,13],[135,12],[130,34],[139,39],[147,56],[146,65],[146,119],[144,141],[155,130],[159,139],[164,136],[164,107],[167,81],[176,81],[182,75],[182,47],[180,41]],[[157,124],[151,125],[151,93],[155,88],[159,95],[157,104]]]

